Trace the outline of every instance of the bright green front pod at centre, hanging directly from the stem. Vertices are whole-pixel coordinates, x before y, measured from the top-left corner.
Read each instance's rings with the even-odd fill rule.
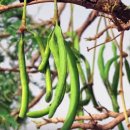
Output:
[[[65,89],[66,76],[67,76],[67,52],[65,47],[65,42],[62,34],[62,30],[58,24],[55,26],[54,30],[55,36],[57,38],[58,48],[59,48],[59,73],[58,73],[58,85],[56,87],[54,100],[50,106],[49,117],[52,117],[60,105],[60,99],[63,89]]]

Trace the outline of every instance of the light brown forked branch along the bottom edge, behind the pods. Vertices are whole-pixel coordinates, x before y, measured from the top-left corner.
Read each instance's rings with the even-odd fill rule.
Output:
[[[127,114],[130,117],[130,109],[127,110]],[[114,119],[112,119],[110,122],[106,123],[106,124],[99,124],[98,122],[95,124],[92,121],[92,117],[90,116],[77,116],[75,118],[75,121],[79,121],[79,120],[89,120],[88,123],[73,123],[72,125],[72,129],[74,128],[82,128],[82,129],[96,129],[96,130],[108,130],[108,129],[112,129],[115,126],[117,126],[120,122],[122,122],[125,119],[124,113],[116,113],[116,112],[112,112],[112,111],[108,111],[106,113],[103,114],[92,114],[91,115],[93,117],[94,120],[103,120],[109,117],[113,117]],[[52,118],[52,119],[45,119],[43,118],[43,121],[40,122],[35,122],[37,127],[40,128],[43,125],[49,124],[49,123],[63,123],[65,121],[64,118]]]

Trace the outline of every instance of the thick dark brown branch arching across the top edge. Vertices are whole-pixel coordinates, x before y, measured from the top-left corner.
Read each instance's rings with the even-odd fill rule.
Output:
[[[57,0],[58,2],[64,3],[73,3],[81,5],[83,7],[94,9],[99,12],[104,12],[113,16],[116,16],[118,19],[122,20],[124,23],[127,23],[130,20],[130,9],[124,5],[121,0],[97,0],[97,2],[90,2],[87,0]],[[45,3],[45,2],[54,2],[54,0],[34,0],[28,5]],[[23,3],[17,3],[7,6],[0,6],[0,11],[4,12],[13,8],[22,7]]]

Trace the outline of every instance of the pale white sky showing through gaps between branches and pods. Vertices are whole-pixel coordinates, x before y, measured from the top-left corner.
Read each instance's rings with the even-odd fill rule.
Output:
[[[125,4],[130,5],[129,0],[122,0]],[[77,29],[78,27],[80,27],[80,25],[82,25],[82,23],[84,22],[84,20],[86,19],[86,17],[88,16],[89,12],[91,10],[90,9],[86,9],[84,7],[81,6],[77,6],[75,5],[74,7],[74,29]],[[53,4],[52,3],[43,3],[43,4],[38,4],[38,5],[31,5],[27,7],[27,13],[29,15],[32,15],[34,20],[37,22],[40,22],[42,20],[48,20],[50,18],[53,17]],[[69,4],[67,4],[67,7],[65,8],[62,16],[61,16],[61,27],[62,27],[62,31],[65,32],[67,30],[67,25],[69,22],[69,18],[70,18],[70,6]],[[88,42],[85,40],[85,38],[87,37],[92,37],[95,35],[95,31],[96,28],[95,26],[97,25],[97,20],[94,21],[94,23],[84,32],[84,34],[82,35],[81,38],[81,44],[80,44],[80,48],[81,48],[81,53],[84,54],[87,59],[90,61],[90,64],[92,64],[92,54],[93,51],[88,52],[87,51],[87,47],[92,47],[94,45],[94,42]],[[102,30],[104,27],[103,23],[101,24],[100,30]],[[115,31],[115,33],[118,34],[117,31]],[[129,41],[130,41],[130,37],[129,37],[129,31],[125,32],[125,40],[124,40],[124,50],[126,50],[128,52],[128,46],[129,46]],[[100,38],[98,40],[98,43],[103,42],[105,38],[105,35]],[[118,38],[119,40],[119,38]],[[99,50],[99,48],[97,48],[97,51]],[[105,59],[106,61],[112,56],[112,53],[110,53],[111,51],[111,45],[110,43],[108,43],[106,50],[105,50]],[[129,52],[128,52],[129,53]],[[128,56],[128,59],[130,57]],[[97,60],[96,60],[97,63]],[[110,71],[110,75],[113,73],[113,69]],[[125,73],[125,70],[124,70]],[[37,75],[35,75],[37,77]],[[33,77],[32,77],[33,78]],[[34,77],[35,78],[35,77]],[[110,77],[111,78],[111,77]],[[107,107],[108,109],[112,110],[111,107],[111,101],[108,97],[108,95],[106,94],[106,89],[104,88],[104,85],[102,83],[102,80],[99,76],[99,71],[97,68],[97,65],[95,66],[95,76],[94,76],[94,92],[96,93],[96,98],[97,100],[105,107]],[[125,93],[125,100],[126,100],[126,105],[128,108],[130,108],[130,84],[128,83],[126,77],[123,77],[123,83],[124,83],[124,93]],[[32,87],[32,91],[35,95],[37,95],[39,93],[39,90],[36,89],[36,87]],[[120,97],[118,98],[120,104]],[[40,100],[40,102],[32,109],[32,110],[38,110],[40,108],[44,108],[46,107],[48,104],[45,103],[44,98]],[[60,107],[58,108],[55,117],[65,117],[66,113],[67,113],[67,109],[68,109],[68,105],[69,105],[69,100],[68,97],[66,96],[63,103],[60,105]],[[93,107],[92,107],[92,103],[90,103],[88,106],[85,107],[85,109],[93,114],[93,113],[98,113]],[[121,109],[122,110],[122,109]],[[87,114],[87,113],[86,113]],[[40,119],[39,119],[40,120]],[[33,129],[36,130],[35,128],[35,124],[32,123],[32,119],[28,120],[29,124],[26,126],[27,129]],[[106,121],[104,121],[105,123]],[[60,127],[61,124],[52,124],[52,125],[47,125],[44,127],[41,127],[40,130],[56,130],[56,128]],[[115,128],[114,130],[116,130],[117,128]],[[22,130],[24,130],[24,128],[22,128]]]

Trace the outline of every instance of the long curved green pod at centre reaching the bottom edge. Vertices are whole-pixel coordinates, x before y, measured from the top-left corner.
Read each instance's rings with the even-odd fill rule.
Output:
[[[68,60],[68,69],[70,74],[70,105],[65,119],[64,125],[61,130],[70,130],[71,125],[77,114],[80,100],[80,84],[79,84],[79,75],[78,69],[76,66],[76,59],[72,50],[67,46],[67,60]]]

